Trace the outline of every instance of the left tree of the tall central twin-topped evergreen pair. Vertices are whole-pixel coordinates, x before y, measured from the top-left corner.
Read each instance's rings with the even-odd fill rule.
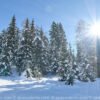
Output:
[[[60,32],[58,32],[58,24],[53,22],[50,29],[50,69],[54,74],[59,67],[59,56],[61,48],[61,38],[59,33]]]

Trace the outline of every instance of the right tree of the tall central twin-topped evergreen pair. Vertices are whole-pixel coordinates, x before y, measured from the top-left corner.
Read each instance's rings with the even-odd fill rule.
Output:
[[[67,71],[68,71],[68,64],[69,64],[69,59],[68,59],[68,50],[67,50],[67,41],[66,41],[66,36],[65,32],[63,30],[62,24],[59,24],[59,37],[60,37],[60,51],[59,51],[59,68],[58,68],[58,75],[60,76],[60,80],[66,80],[67,77]]]

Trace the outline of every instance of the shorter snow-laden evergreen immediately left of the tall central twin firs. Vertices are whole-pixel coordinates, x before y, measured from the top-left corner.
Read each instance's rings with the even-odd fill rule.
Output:
[[[34,56],[33,56],[33,67],[41,69],[43,74],[47,72],[48,66],[48,39],[44,35],[42,29],[36,29],[36,35],[33,42]],[[34,68],[33,68],[34,69]]]

